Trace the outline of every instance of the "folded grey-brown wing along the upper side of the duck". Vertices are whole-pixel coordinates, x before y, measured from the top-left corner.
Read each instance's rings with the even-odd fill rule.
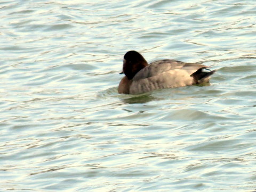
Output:
[[[188,73],[192,74],[198,69],[206,68],[205,65],[196,63],[184,63],[176,60],[159,60],[150,63],[148,66],[140,70],[134,77],[133,80],[137,81],[140,79],[145,79],[153,76],[157,76],[163,72],[170,70],[186,70]]]

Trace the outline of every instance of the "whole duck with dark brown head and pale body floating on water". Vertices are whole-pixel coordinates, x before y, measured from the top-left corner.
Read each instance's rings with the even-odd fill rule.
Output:
[[[118,86],[119,94],[138,95],[156,89],[184,87],[209,82],[215,70],[198,63],[176,60],[158,60],[148,64],[137,51],[125,53],[125,74]]]

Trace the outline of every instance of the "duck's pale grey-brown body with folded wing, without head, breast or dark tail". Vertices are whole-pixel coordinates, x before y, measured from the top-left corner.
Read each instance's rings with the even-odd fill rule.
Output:
[[[130,94],[146,93],[155,89],[183,87],[195,84],[191,74],[206,66],[175,60],[153,62],[133,78]]]

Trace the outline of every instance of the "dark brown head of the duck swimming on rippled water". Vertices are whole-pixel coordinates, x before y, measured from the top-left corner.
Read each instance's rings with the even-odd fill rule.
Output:
[[[129,51],[124,55],[123,72],[127,79],[132,79],[136,73],[147,65],[148,62],[137,51]]]

